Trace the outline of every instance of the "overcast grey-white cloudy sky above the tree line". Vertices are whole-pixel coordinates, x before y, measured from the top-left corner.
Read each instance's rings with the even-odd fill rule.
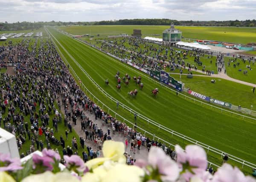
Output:
[[[0,22],[256,19],[256,0],[0,0]]]

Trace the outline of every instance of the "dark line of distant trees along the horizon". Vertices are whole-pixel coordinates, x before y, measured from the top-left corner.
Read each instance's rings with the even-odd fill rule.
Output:
[[[123,19],[98,22],[0,22],[0,30],[29,30],[39,29],[44,26],[72,26],[72,25],[170,25],[174,23],[180,26],[235,26],[256,27],[256,20],[228,20],[228,21],[178,21],[170,19]]]

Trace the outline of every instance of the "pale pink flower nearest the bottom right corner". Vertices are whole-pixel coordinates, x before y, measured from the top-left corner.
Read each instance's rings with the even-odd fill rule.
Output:
[[[212,182],[256,182],[250,176],[244,176],[239,168],[233,168],[231,165],[225,163],[214,174]]]

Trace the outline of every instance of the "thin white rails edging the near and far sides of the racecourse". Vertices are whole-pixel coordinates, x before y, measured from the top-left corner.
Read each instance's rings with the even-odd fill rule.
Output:
[[[50,33],[50,32],[49,32]],[[51,34],[51,33],[50,33]],[[51,34],[52,35],[52,34]],[[52,37],[53,38],[55,38],[53,35],[52,35]],[[56,40],[56,38],[55,38],[55,40]],[[56,40],[57,42],[58,42],[58,40]],[[78,41],[80,41],[79,39],[78,39]],[[59,43],[59,42],[58,42]],[[60,43],[59,43],[60,44]],[[60,46],[62,47],[62,49],[64,49],[65,50],[65,52],[67,52],[67,50],[60,44]],[[79,68],[81,68],[81,70],[84,72],[84,74],[85,74],[85,70],[81,67],[81,65],[80,64],[78,64],[77,63],[77,61],[67,52],[67,54],[70,56],[70,58],[71,59],[73,59],[73,61],[75,61],[75,63],[76,63],[76,65],[77,66],[79,66]],[[67,60],[66,60],[67,61]],[[114,60],[114,61],[116,61],[116,60]],[[67,62],[67,64],[68,64],[68,62]],[[126,66],[125,64],[123,65],[123,66]],[[129,69],[131,69],[131,67],[129,67],[129,66],[127,66]],[[73,68],[72,68],[73,69]],[[132,69],[132,70],[134,70],[134,69]],[[134,71],[136,71],[137,72],[137,70],[134,70]],[[76,72],[73,70],[73,73],[76,75]],[[87,73],[85,74],[85,75],[88,75]],[[76,75],[76,77],[79,79],[79,80],[81,80],[79,77],[78,77],[78,75]],[[88,78],[90,78],[90,79],[92,79],[93,80],[93,78],[91,78],[90,77],[90,75],[89,75],[89,77]],[[149,78],[149,77],[146,77],[146,78]],[[151,79],[151,80],[153,80],[153,81],[155,81],[154,79],[152,79],[152,78],[149,78],[149,79]],[[155,81],[157,84],[160,84],[160,86],[163,86],[163,87],[166,87],[166,88],[168,88],[168,89],[170,89],[169,87],[167,87],[167,86],[165,86],[165,85],[163,85],[163,84],[161,84],[160,82],[158,82],[158,81]],[[95,86],[96,87],[98,87],[99,88],[99,90],[100,91],[104,91],[94,80],[92,81],[92,83],[93,84],[95,84]],[[84,86],[84,84],[82,83],[82,85]],[[85,87],[85,86],[84,86]],[[86,87],[85,87],[86,88]],[[87,89],[86,89],[87,90]],[[170,89],[170,90],[172,90],[172,89]],[[93,96],[93,101],[94,101],[94,99],[96,98],[89,90],[87,90],[92,96]],[[172,90],[172,91],[175,91],[175,90]],[[176,91],[175,91],[176,92]],[[104,92],[102,92],[102,93],[104,93]],[[105,94],[105,93],[104,93]],[[180,95],[183,95],[183,96],[185,96],[185,98],[190,98],[190,97],[188,97],[188,96],[186,96],[186,95],[184,95],[184,94],[181,94],[181,93],[179,93]],[[109,94],[107,93],[107,97],[108,98],[110,98],[112,101],[115,101],[115,103],[116,103],[116,99],[115,98],[113,98],[111,95],[110,96],[108,96]],[[96,98],[98,101],[99,101],[99,99],[98,98]],[[207,104],[207,103],[204,103],[204,102],[202,102],[202,101],[198,101],[197,99],[195,99],[195,98],[190,98],[190,99],[192,99],[192,100],[194,100],[194,102],[195,101],[197,101],[197,102],[200,102],[201,104]],[[101,101],[100,101],[101,102]],[[102,103],[102,102],[101,102]],[[105,105],[105,104],[104,104]],[[134,110],[132,110],[131,108],[129,108],[128,106],[126,106],[125,104],[122,104],[121,102],[119,102],[119,105],[121,106],[121,107],[123,107],[123,108],[125,108],[126,110],[128,110],[130,113],[136,113]],[[219,108],[219,107],[216,107],[216,106],[213,106],[213,105],[211,105],[211,104],[207,104],[208,106],[210,106],[210,107],[215,107],[215,108],[218,108],[218,109],[221,109],[221,112],[222,111],[227,111],[227,112],[230,112],[230,113],[232,113],[232,114],[236,114],[236,115],[239,115],[239,116],[243,116],[243,118],[244,117],[247,117],[247,118],[250,118],[250,117],[248,117],[248,116],[244,116],[244,115],[240,115],[240,114],[238,114],[238,113],[233,113],[233,112],[231,112],[231,111],[228,111],[228,110],[225,110],[225,109],[222,109],[222,108]],[[106,105],[105,105],[106,106]],[[106,106],[107,107],[107,106]],[[109,112],[109,110],[111,110],[109,107],[108,107],[108,112]],[[111,110],[112,112],[114,112],[113,110]],[[115,113],[115,112],[114,112]],[[116,113],[116,115],[117,116],[119,116],[119,114],[117,114]],[[150,124],[153,124],[154,126],[156,126],[156,127],[158,127],[159,128],[159,130],[160,129],[162,129],[162,130],[165,130],[165,131],[167,131],[167,132],[169,132],[170,134],[172,134],[172,136],[173,135],[175,135],[175,136],[178,136],[178,137],[180,137],[180,138],[182,138],[182,139],[184,139],[184,140],[186,140],[186,141],[188,141],[188,142],[191,142],[191,143],[193,143],[193,144],[197,144],[197,145],[199,145],[199,146],[201,146],[201,147],[204,147],[206,150],[207,150],[207,153],[209,152],[209,150],[210,151],[212,151],[212,152],[214,152],[214,153],[217,153],[217,154],[219,154],[219,155],[221,155],[221,156],[224,156],[225,154],[228,154],[229,155],[229,159],[232,159],[233,161],[235,161],[235,162],[238,162],[238,163],[240,163],[240,164],[242,164],[242,168],[244,167],[244,165],[246,165],[246,166],[248,166],[248,167],[250,167],[250,168],[255,168],[256,167],[256,165],[255,164],[253,164],[253,163],[250,163],[250,162],[247,162],[247,161],[245,161],[245,160],[243,160],[243,159],[240,159],[240,158],[238,158],[238,157],[236,157],[236,156],[233,156],[233,155],[231,155],[231,154],[229,154],[229,153],[226,153],[226,152],[224,152],[224,151],[221,151],[221,150],[218,150],[217,148],[215,148],[215,147],[211,147],[211,146],[209,146],[209,145],[207,145],[207,144],[204,144],[204,143],[202,143],[202,142],[199,142],[199,141],[197,141],[197,140],[195,140],[195,139],[192,139],[192,138],[190,138],[190,137],[188,137],[188,136],[185,136],[185,135],[183,135],[183,134],[181,134],[181,133],[178,133],[178,132],[176,132],[176,131],[174,131],[174,130],[171,130],[171,129],[169,129],[168,127],[165,127],[165,126],[163,126],[163,125],[161,125],[161,124],[158,124],[157,122],[155,122],[155,121],[153,121],[153,120],[151,120],[151,119],[149,119],[149,118],[147,118],[147,117],[145,117],[145,116],[143,116],[143,115],[141,115],[140,113],[137,113],[137,116],[138,116],[138,118],[142,118],[143,120],[145,120],[145,121],[147,121],[148,123],[150,123]],[[120,117],[122,117],[122,116],[120,116]],[[123,118],[123,117],[122,117]],[[124,118],[125,119],[125,118]],[[251,118],[251,119],[254,119],[255,120],[255,118]],[[125,121],[128,121],[128,120],[126,120],[125,119]],[[130,121],[129,121],[129,123],[130,123]],[[133,123],[130,123],[130,124],[133,124]],[[134,125],[134,124],[133,124]],[[144,131],[144,130],[143,130]],[[146,132],[146,131],[145,131]],[[146,133],[149,133],[149,132],[146,132]],[[151,133],[150,133],[151,134]],[[151,134],[152,135],[152,134]],[[154,135],[153,135],[154,136]],[[155,137],[155,136],[154,136]],[[157,137],[158,138],[158,137]],[[159,138],[160,139],[160,138]],[[164,141],[163,139],[161,139],[162,141]]]

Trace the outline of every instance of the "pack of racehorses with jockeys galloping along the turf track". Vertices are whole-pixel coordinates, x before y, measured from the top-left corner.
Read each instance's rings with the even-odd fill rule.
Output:
[[[120,72],[116,72],[116,75],[115,75],[115,79],[116,79],[116,82],[117,82],[117,85],[116,85],[116,89],[117,90],[121,90],[121,78],[120,78]],[[124,81],[126,87],[129,85],[130,83],[130,80],[131,80],[131,77],[130,75],[128,75],[127,73],[125,74],[125,76],[122,77],[122,80]],[[135,82],[135,84],[139,85],[140,86],[140,89],[143,89],[143,83],[141,83],[141,76],[134,76],[133,77],[133,80]],[[108,85],[109,84],[109,81],[108,79],[105,81],[105,84]],[[128,92],[128,95],[131,95],[131,96],[136,96],[137,95],[137,92],[138,90],[135,89],[135,90],[131,90],[130,92]],[[157,93],[158,93],[158,88],[154,89],[154,90],[151,90],[152,94],[156,97]]]

